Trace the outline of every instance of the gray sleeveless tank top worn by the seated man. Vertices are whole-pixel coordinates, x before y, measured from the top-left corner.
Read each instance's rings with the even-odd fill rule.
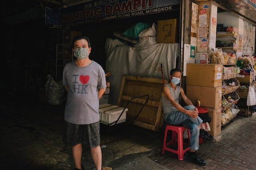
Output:
[[[175,102],[179,103],[180,86],[176,85],[176,90],[173,89],[169,83],[164,84],[164,86],[166,86],[170,89],[170,93],[172,94],[172,97],[174,98]],[[162,103],[164,113],[172,113],[172,112],[178,110],[178,109],[176,109],[176,107],[172,106],[171,102],[164,95],[161,95],[161,103]]]

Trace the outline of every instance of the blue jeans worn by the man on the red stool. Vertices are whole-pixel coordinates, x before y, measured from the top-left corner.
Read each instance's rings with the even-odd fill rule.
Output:
[[[193,105],[185,106],[184,109],[194,110]],[[181,111],[175,111],[166,117],[168,125],[182,125],[190,130],[190,149],[198,150],[199,148],[199,125],[202,123],[200,117],[192,118]]]

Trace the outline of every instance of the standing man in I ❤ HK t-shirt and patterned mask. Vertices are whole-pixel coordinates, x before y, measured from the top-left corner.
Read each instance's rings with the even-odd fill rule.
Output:
[[[105,72],[100,64],[89,59],[92,48],[88,37],[79,35],[72,40],[72,45],[77,59],[66,64],[63,70],[63,85],[68,92],[63,142],[72,146],[74,170],[84,170],[82,144],[90,147],[96,170],[101,170],[98,109],[99,99],[106,90]]]

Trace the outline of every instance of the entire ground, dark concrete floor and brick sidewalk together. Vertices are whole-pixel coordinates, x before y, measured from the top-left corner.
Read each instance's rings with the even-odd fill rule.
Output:
[[[0,113],[0,169],[72,170],[70,148],[62,143],[64,105],[39,102],[35,94],[4,94]],[[113,134],[101,125],[103,166],[113,170],[256,169],[256,115],[236,116],[215,141],[204,141],[197,166],[176,154],[161,154],[163,133],[121,123]],[[186,154],[185,154],[186,158]],[[93,170],[88,148],[82,164]]]

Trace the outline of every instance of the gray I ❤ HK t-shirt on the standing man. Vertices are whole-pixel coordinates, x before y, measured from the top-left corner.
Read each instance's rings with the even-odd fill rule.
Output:
[[[62,84],[68,85],[64,119],[80,125],[98,122],[98,89],[106,88],[105,72],[100,64],[92,61],[88,66],[78,67],[75,61],[67,63]]]

